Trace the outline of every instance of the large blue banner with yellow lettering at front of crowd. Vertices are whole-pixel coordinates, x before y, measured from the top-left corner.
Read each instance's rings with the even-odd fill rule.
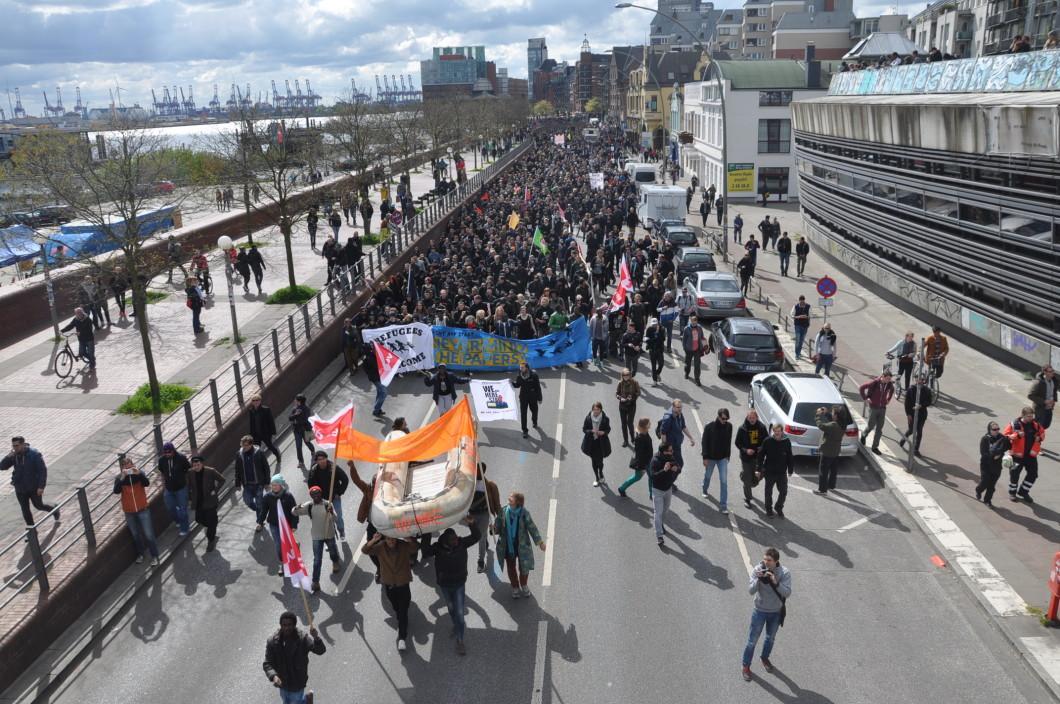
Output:
[[[536,339],[511,339],[478,330],[435,325],[435,364],[469,371],[511,371],[585,362],[593,356],[589,328],[578,318],[567,329]]]

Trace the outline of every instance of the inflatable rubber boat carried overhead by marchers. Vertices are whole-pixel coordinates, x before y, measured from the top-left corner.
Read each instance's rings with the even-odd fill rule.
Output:
[[[391,430],[386,440],[406,435]],[[464,436],[443,461],[387,462],[375,475],[370,520],[390,538],[418,538],[455,526],[471,508],[475,496],[478,447]]]

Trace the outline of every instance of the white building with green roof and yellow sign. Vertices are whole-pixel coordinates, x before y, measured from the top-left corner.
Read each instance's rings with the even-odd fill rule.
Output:
[[[798,197],[792,145],[793,101],[823,96],[819,63],[813,60],[721,60],[706,65],[703,80],[684,88],[682,129],[692,135],[679,149],[686,174],[722,190],[728,174],[730,203],[754,201],[763,192],[773,200]],[[719,93],[724,90],[724,106]],[[726,130],[726,125],[728,129]],[[727,135],[726,135],[727,131]],[[728,165],[722,158],[727,137]]]

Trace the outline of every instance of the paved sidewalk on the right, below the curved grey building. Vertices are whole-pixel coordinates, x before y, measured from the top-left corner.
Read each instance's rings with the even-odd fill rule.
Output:
[[[678,179],[678,184],[688,183]],[[699,203],[697,196],[692,204],[695,215],[689,216],[689,222],[696,225],[701,222],[695,211]],[[744,242],[750,233],[761,241],[758,224],[764,215],[770,215],[770,219],[779,216],[781,230],[787,231],[793,242],[797,242],[802,230],[797,205],[762,208],[760,205],[734,204],[729,216],[735,217],[737,213],[743,215]],[[712,215],[708,221],[708,229],[718,231],[717,227],[710,227],[716,224],[717,218]],[[731,233],[727,245],[729,259],[738,261],[743,247],[731,242]],[[725,264],[719,262],[719,269],[723,268]],[[806,276],[801,279],[794,278],[794,257],[789,269],[792,277],[780,277],[779,268],[779,258],[773,249],[765,252],[759,250],[756,280],[762,287],[762,293],[779,303],[785,315],[799,295],[806,296],[807,301],[814,306],[810,337],[816,335],[823,322],[823,309],[816,305],[816,280],[828,275],[838,283],[835,303],[828,312],[828,320],[838,340],[835,366],[847,371],[848,376],[842,390],[851,408],[860,412],[862,402],[858,398],[858,386],[879,374],[885,362],[884,352],[906,331],[914,332],[918,338],[926,336],[934,321],[918,318],[918,312],[914,309],[903,310],[898,301],[882,298],[814,249],[810,251]],[[753,307],[756,314],[776,322],[776,307],[768,311],[762,305]],[[1060,546],[1060,462],[1055,452],[1057,440],[1046,433],[1043,453],[1039,458],[1039,479],[1031,492],[1035,504],[1009,501],[1008,476],[1005,473],[997,482],[993,501],[995,508],[991,510],[978,503],[975,499],[975,486],[979,479],[979,438],[986,433],[989,421],[1004,427],[1018,417],[1023,406],[1028,405],[1026,394],[1030,382],[1022,371],[1006,367],[962,344],[951,335],[949,325],[943,323],[942,328],[950,340],[950,355],[946,373],[940,380],[940,399],[930,409],[924,426],[921,447],[924,459],[917,461],[912,475],[904,472],[901,474],[913,478],[923,488],[926,495],[955,524],[950,526],[951,530],[957,529],[964,533],[972,544],[970,547],[973,550],[977,548],[1001,574],[1004,582],[1014,589],[1019,599],[1026,602],[1021,603],[1019,599],[1014,599],[1014,609],[1010,610],[1012,613],[1030,613],[1027,611],[1028,606],[1044,609],[1048,602],[1046,580],[1053,556]],[[802,371],[813,371],[812,364],[803,364],[802,367]],[[887,419],[889,422],[882,442],[885,455],[893,455],[904,464],[907,454],[898,444],[898,428],[904,432],[906,427],[901,403],[890,403]],[[1052,433],[1056,434],[1057,429],[1054,427]],[[895,483],[888,482],[888,486],[899,491]],[[926,527],[929,532],[932,529],[931,525]],[[937,534],[934,538],[943,546],[948,543],[944,535]],[[951,556],[951,559],[954,558]],[[978,576],[969,577],[974,581]],[[1060,653],[1060,632],[1041,628],[1029,616],[1002,618],[1006,614],[994,613],[1000,611],[999,600],[994,597],[995,595],[979,595],[980,601],[991,603],[993,609],[987,609],[988,613],[1025,655],[1038,655],[1039,661],[1048,663],[1040,665],[1053,677],[1056,690],[1060,687],[1060,659],[1057,655]]]

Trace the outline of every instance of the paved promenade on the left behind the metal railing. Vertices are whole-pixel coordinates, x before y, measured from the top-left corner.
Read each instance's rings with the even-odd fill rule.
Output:
[[[413,194],[434,188],[429,170],[411,174]],[[373,233],[378,231],[378,191],[372,192],[375,205]],[[231,213],[216,213],[231,215]],[[344,243],[353,230],[344,223],[339,239]],[[317,231],[317,251],[310,248],[306,226],[301,223],[293,237],[295,275],[299,283],[316,288],[326,279],[319,248],[332,233],[321,219]],[[266,262],[264,294],[259,296],[253,281],[250,294],[244,294],[242,279],[235,276],[235,311],[241,336],[253,341],[264,335],[278,321],[290,314],[293,305],[266,305],[271,291],[287,285],[287,266],[283,239],[278,228],[254,232],[254,242]],[[366,246],[365,256],[374,249]],[[189,258],[192,252],[188,252]],[[210,272],[214,280],[212,301],[204,309],[201,320],[207,332],[192,333],[191,311],[184,305],[183,278],[174,272],[173,283],[164,275],[151,282],[151,289],[166,294],[166,298],[148,305],[152,348],[159,380],[162,383],[182,383],[193,388],[207,384],[222,368],[227,371],[233,356],[240,353],[231,340],[232,327],[227,301],[224,260],[214,250],[209,253]],[[151,427],[149,417],[129,417],[114,413],[137,387],[146,382],[146,368],[139,331],[132,320],[118,321],[111,302],[113,325],[96,332],[96,376],[74,373],[66,381],[52,370],[52,358],[57,347],[52,341],[51,330],[23,339],[17,345],[0,350],[0,424],[8,435],[22,435],[39,450],[48,463],[48,491],[45,500],[57,499],[76,486],[85,476],[95,474],[100,467],[112,462],[117,453],[131,444]],[[131,312],[131,304],[128,306]],[[68,318],[61,319],[66,324]],[[75,347],[75,340],[71,341]],[[76,368],[75,368],[76,369]],[[278,423],[283,419],[278,419]],[[187,452],[187,447],[180,448]],[[0,535],[10,534],[22,525],[21,514],[14,507],[14,489],[10,475],[0,477],[0,497],[11,501],[12,509],[0,516]],[[0,541],[3,542],[3,541]]]

